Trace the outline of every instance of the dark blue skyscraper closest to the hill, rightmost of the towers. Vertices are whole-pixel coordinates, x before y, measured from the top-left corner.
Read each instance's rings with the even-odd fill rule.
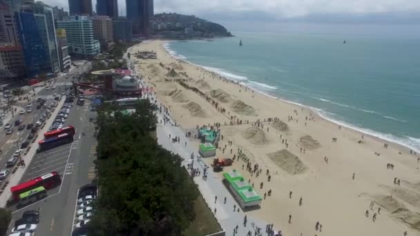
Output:
[[[153,0],[126,0],[127,19],[133,22],[133,34],[149,36]]]

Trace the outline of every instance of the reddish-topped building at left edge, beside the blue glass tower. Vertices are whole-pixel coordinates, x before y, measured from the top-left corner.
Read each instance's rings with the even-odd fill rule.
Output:
[[[12,82],[26,77],[26,65],[21,46],[0,46],[0,80]]]

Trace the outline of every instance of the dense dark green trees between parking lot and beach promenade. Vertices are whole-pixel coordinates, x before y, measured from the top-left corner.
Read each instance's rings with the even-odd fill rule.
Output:
[[[99,109],[99,197],[89,235],[182,235],[198,188],[182,158],[157,144],[153,105],[144,100],[135,110]]]

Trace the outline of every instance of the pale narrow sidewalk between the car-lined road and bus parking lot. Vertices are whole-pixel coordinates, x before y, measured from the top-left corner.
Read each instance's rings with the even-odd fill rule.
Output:
[[[30,144],[30,150],[28,151],[28,153],[26,155],[22,156],[22,159],[26,163],[26,168],[22,168],[21,166],[19,166],[19,167],[15,166],[15,168],[17,167],[17,171],[14,174],[10,174],[10,177],[8,179],[9,184],[6,187],[6,189],[4,190],[4,192],[0,194],[0,207],[1,208],[6,207],[7,201],[8,201],[8,199],[10,199],[10,196],[12,195],[12,193],[10,192],[10,187],[19,184],[19,181],[21,180],[21,178],[25,174],[26,170],[28,170],[28,168],[30,166],[30,162],[32,161],[33,157],[35,157],[35,154],[37,153],[38,141],[41,140],[41,139],[44,139],[44,135],[43,135],[44,132],[47,132],[48,128],[51,126],[51,124],[53,124],[53,121],[54,121],[55,117],[57,116],[57,114],[60,110],[59,108],[61,108],[61,106],[63,106],[64,101],[66,101],[66,97],[61,98],[57,107],[51,113],[50,118],[46,121],[46,123],[44,125],[44,128],[42,128],[41,130],[38,130],[38,133],[37,133],[38,137],[32,144]],[[19,110],[18,110],[18,112],[19,112]],[[11,170],[12,169],[10,169],[10,171]]]

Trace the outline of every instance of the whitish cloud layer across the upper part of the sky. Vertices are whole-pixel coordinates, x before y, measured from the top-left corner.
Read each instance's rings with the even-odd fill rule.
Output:
[[[95,1],[95,0],[93,0]],[[68,9],[68,0],[45,0]],[[125,14],[125,0],[118,0]],[[155,0],[155,12],[209,15],[265,12],[276,18],[303,17],[308,14],[348,14],[420,12],[420,0]],[[95,7],[95,3],[93,3]]]

